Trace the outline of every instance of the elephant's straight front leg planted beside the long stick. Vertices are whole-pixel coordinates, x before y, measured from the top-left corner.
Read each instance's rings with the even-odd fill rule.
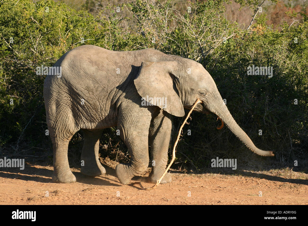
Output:
[[[149,130],[149,142],[151,147],[152,172],[149,181],[155,183],[163,175],[168,162],[168,148],[170,142],[172,123],[170,114],[160,110],[153,118]],[[171,182],[170,174],[165,174],[160,184]]]

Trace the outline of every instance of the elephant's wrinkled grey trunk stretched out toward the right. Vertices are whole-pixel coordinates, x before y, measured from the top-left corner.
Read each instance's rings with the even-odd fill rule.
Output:
[[[254,153],[261,155],[261,156],[274,156],[272,151],[263,151],[261,149],[258,149],[253,142],[250,140],[248,135],[241,129],[239,125],[237,125],[236,121],[233,119],[231,113],[229,112],[228,108],[224,104],[224,101],[222,100],[218,90],[217,94],[220,97],[216,98],[220,101],[217,103],[217,105],[214,107],[212,112],[216,113],[218,117],[220,117],[228,126],[228,128],[237,136],[250,150],[252,150]],[[218,107],[217,107],[218,106]]]

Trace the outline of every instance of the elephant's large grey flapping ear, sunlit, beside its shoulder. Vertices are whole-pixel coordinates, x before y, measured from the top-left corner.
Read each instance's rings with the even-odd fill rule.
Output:
[[[143,98],[142,105],[156,105],[182,117],[184,108],[173,79],[178,79],[179,61],[142,62],[135,86]]]

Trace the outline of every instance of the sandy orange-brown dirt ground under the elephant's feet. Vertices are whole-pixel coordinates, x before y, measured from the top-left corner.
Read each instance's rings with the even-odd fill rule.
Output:
[[[1,170],[0,204],[308,204],[308,175],[291,169],[241,175],[171,171],[172,183],[151,191],[140,188],[147,175],[122,185],[112,168],[95,178],[71,168],[77,182],[70,184],[53,183],[53,167],[43,164]]]

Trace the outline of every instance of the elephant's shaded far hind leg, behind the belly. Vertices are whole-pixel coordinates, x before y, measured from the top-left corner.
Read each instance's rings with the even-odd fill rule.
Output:
[[[99,138],[102,129],[83,129],[83,149],[81,153],[81,173],[86,176],[100,176],[106,173],[105,168],[99,162]]]

